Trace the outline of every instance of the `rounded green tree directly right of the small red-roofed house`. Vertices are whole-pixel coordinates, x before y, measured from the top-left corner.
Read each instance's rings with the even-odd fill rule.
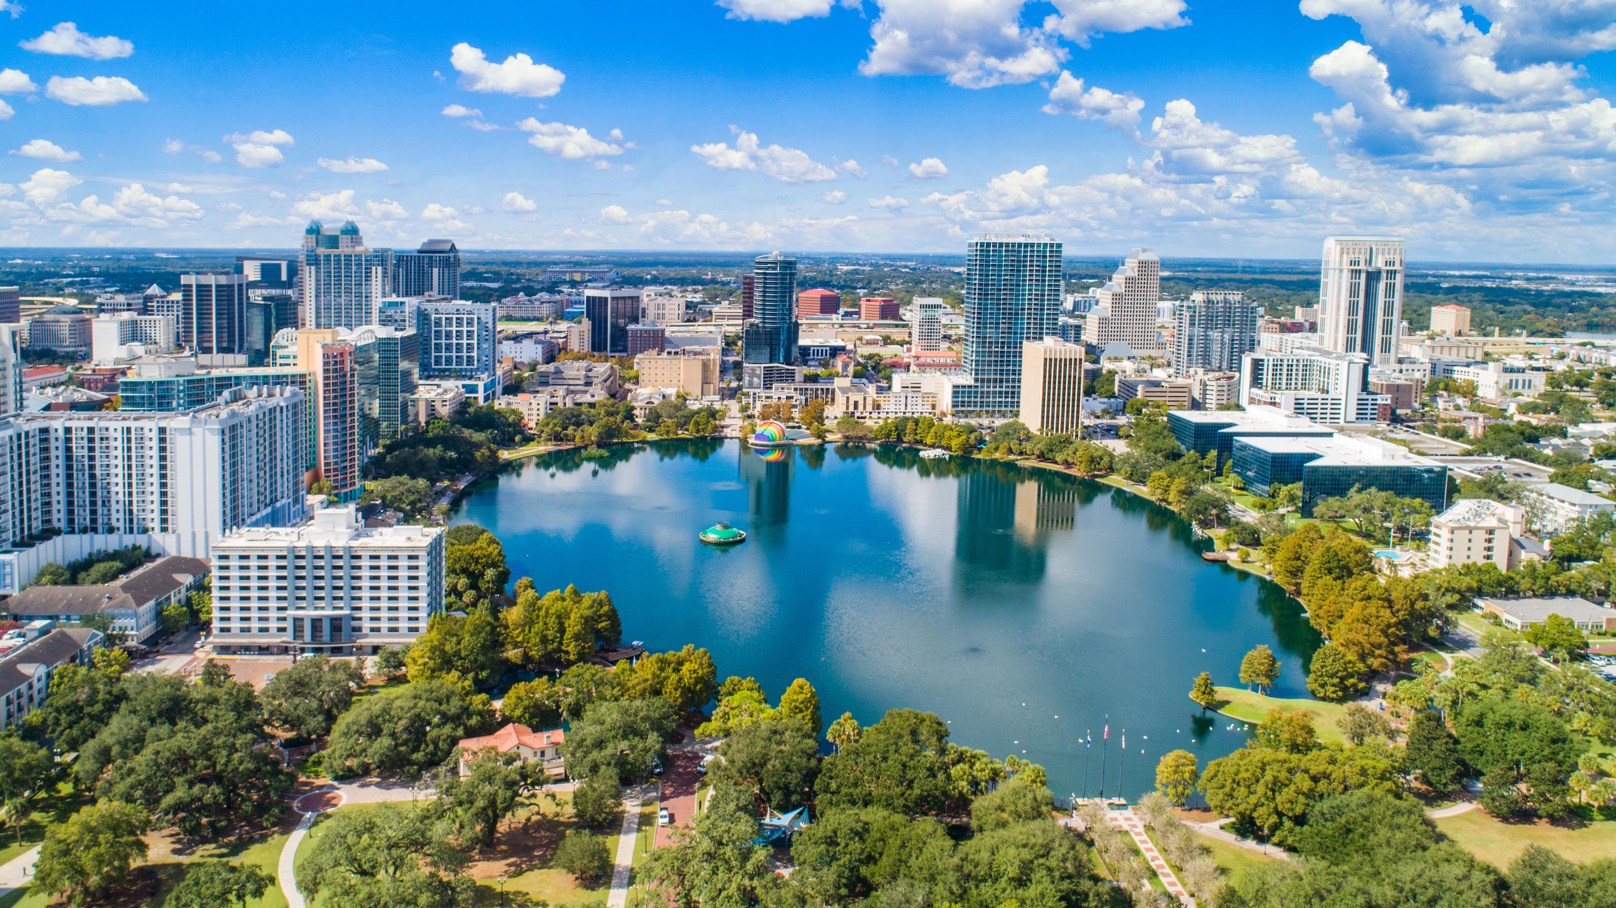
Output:
[[[667,737],[679,727],[679,713],[661,696],[595,703],[572,722],[566,743],[567,774],[588,779],[603,774],[642,782],[653,759],[667,758]]]

